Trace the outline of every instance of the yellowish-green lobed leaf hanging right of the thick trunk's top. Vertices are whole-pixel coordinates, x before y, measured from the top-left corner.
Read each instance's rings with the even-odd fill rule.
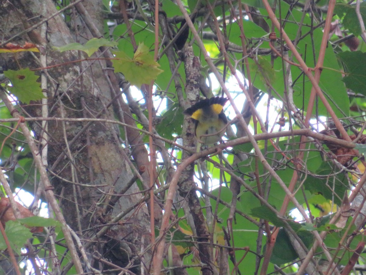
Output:
[[[150,84],[163,72],[158,67],[160,65],[149,54],[149,49],[143,44],[139,44],[134,57],[131,59],[124,52],[113,52],[116,59],[112,60],[115,72],[123,73],[131,85],[140,88],[142,84]]]

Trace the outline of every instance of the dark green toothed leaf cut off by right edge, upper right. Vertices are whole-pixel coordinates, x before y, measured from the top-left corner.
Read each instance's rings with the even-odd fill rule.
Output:
[[[366,95],[366,53],[361,51],[341,52],[337,55],[343,62],[347,75],[342,81],[355,93]]]

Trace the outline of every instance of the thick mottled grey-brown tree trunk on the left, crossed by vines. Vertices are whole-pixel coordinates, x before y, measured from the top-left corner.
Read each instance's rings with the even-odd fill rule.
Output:
[[[94,27],[102,33],[101,1],[91,0],[84,4],[89,9],[88,16],[92,18],[91,22],[95,23]],[[45,72],[49,117],[97,117],[113,120],[115,115],[113,109],[106,108],[113,104],[115,109],[121,109],[122,105],[125,112],[124,122],[135,126],[132,115],[122,99],[113,99],[120,91],[118,83],[108,79],[108,69],[105,69],[109,66],[108,63],[104,60],[72,62],[85,59],[87,56],[76,51],[60,53],[52,48],[74,42],[73,37],[87,39],[93,37],[90,32],[91,26],[79,18],[75,7],[69,11],[71,19],[67,23],[60,15],[56,15],[48,20],[47,25],[44,23],[11,41],[20,45],[25,42],[42,45],[46,64],[39,62],[40,54],[21,52],[16,54],[16,58],[14,54],[2,54],[0,65],[4,70],[58,65],[44,71],[36,70],[36,74]],[[49,18],[55,12],[57,12],[55,4],[50,0],[20,0],[5,3],[0,8],[1,37],[7,40],[44,18]],[[42,37],[41,28],[44,26],[46,36]],[[44,116],[40,102],[32,103],[23,105],[23,110],[33,117]],[[88,256],[91,257],[93,254],[97,256],[95,259],[101,259],[100,261],[94,259],[93,266],[103,271],[113,268],[108,262],[102,261],[108,259],[120,267],[134,266],[130,271],[141,273],[141,267],[148,268],[151,258],[151,252],[145,251],[150,241],[149,213],[145,202],[132,208],[133,211],[123,216],[123,220],[117,225],[109,228],[97,242],[88,242],[112,217],[130,208],[142,197],[135,183],[138,177],[137,171],[132,168],[127,158],[131,151],[121,146],[120,140],[125,137],[120,137],[116,125],[105,122],[48,121],[47,123],[48,130],[45,135],[43,134],[45,128],[40,123],[33,123],[30,126],[37,139],[43,136],[47,141],[49,177],[67,223],[84,240],[83,245],[89,247]],[[139,137],[139,132],[129,129],[126,134],[128,140],[134,140],[136,145],[139,145],[141,140],[136,139]],[[140,165],[147,165],[147,151],[143,144],[135,147],[132,154],[138,157]],[[146,174],[146,172],[143,174],[143,178],[146,178]],[[42,188],[42,184],[37,188]],[[124,196],[113,196],[119,194],[121,190],[124,193],[120,195]],[[114,203],[108,206],[110,201]],[[137,257],[140,253],[143,257]],[[139,263],[140,258],[145,262]]]

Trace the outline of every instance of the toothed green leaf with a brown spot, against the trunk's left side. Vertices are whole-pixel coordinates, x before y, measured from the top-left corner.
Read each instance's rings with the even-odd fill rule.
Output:
[[[42,94],[40,83],[37,82],[39,76],[36,76],[29,68],[17,71],[7,70],[4,75],[10,79],[12,84],[11,87],[7,87],[8,90],[22,103],[29,104],[31,100],[46,98]]]

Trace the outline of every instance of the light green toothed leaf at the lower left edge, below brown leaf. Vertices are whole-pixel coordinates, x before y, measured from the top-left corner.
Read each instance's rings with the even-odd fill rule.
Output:
[[[19,221],[7,221],[5,226],[5,234],[8,237],[10,246],[13,250],[19,251],[20,248],[27,242],[27,239],[32,237],[32,233]],[[0,234],[0,250],[6,249],[3,235]],[[20,252],[20,251],[19,251]]]

